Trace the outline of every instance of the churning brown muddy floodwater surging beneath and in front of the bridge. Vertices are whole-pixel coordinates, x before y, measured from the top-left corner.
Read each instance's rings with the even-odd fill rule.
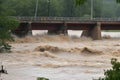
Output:
[[[77,34],[77,36],[75,36]],[[39,35],[15,38],[11,53],[0,54],[8,74],[2,80],[92,80],[111,68],[110,59],[120,61],[120,33],[103,33],[103,40],[72,36]],[[105,36],[104,36],[105,35]],[[112,36],[112,37],[111,37]]]

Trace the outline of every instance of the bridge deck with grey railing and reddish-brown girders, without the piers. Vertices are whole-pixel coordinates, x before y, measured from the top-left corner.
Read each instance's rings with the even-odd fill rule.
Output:
[[[120,18],[79,18],[79,17],[17,17],[21,25],[30,23],[32,30],[53,30],[64,23],[67,30],[89,30],[101,23],[102,30],[120,30]]]

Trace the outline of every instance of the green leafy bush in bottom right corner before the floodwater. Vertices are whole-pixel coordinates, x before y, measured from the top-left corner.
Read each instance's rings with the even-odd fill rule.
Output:
[[[104,71],[105,78],[99,80],[120,80],[120,62],[117,59],[111,59],[112,69]]]

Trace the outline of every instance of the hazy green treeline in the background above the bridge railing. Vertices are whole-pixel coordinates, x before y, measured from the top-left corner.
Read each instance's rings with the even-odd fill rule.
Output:
[[[37,0],[5,0],[13,9],[12,16],[35,16]],[[116,0],[93,0],[93,17],[120,17]],[[91,0],[76,6],[75,0],[38,0],[37,16],[87,17],[91,15]]]

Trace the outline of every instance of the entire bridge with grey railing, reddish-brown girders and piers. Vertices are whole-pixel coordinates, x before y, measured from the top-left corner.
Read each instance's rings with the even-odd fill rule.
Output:
[[[120,18],[16,17],[20,25],[12,32],[18,36],[32,30],[48,30],[48,34],[67,34],[67,30],[83,30],[82,36],[100,40],[101,30],[120,30]]]

